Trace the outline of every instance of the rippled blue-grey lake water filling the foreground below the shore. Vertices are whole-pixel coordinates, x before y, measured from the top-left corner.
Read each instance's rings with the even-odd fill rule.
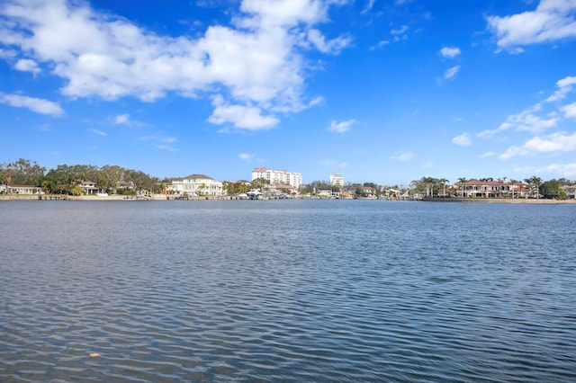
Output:
[[[575,249],[572,205],[0,202],[0,381],[574,381]]]

